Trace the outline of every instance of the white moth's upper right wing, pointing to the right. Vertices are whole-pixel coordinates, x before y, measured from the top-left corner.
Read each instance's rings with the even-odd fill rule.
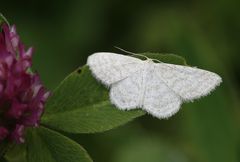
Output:
[[[155,74],[183,101],[209,94],[222,81],[217,74],[194,67],[158,63]]]

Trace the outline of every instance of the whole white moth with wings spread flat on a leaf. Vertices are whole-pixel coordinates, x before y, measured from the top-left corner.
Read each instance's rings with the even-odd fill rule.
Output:
[[[206,70],[115,53],[95,53],[87,65],[110,88],[111,103],[118,109],[141,108],[160,119],[175,114],[182,102],[209,94],[222,81]]]

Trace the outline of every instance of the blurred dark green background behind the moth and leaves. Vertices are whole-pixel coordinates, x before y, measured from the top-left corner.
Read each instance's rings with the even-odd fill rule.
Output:
[[[0,11],[28,46],[49,89],[93,52],[170,52],[220,74],[223,84],[169,120],[141,117],[76,135],[95,162],[240,161],[239,0],[11,0]],[[64,120],[64,119],[63,119]]]

